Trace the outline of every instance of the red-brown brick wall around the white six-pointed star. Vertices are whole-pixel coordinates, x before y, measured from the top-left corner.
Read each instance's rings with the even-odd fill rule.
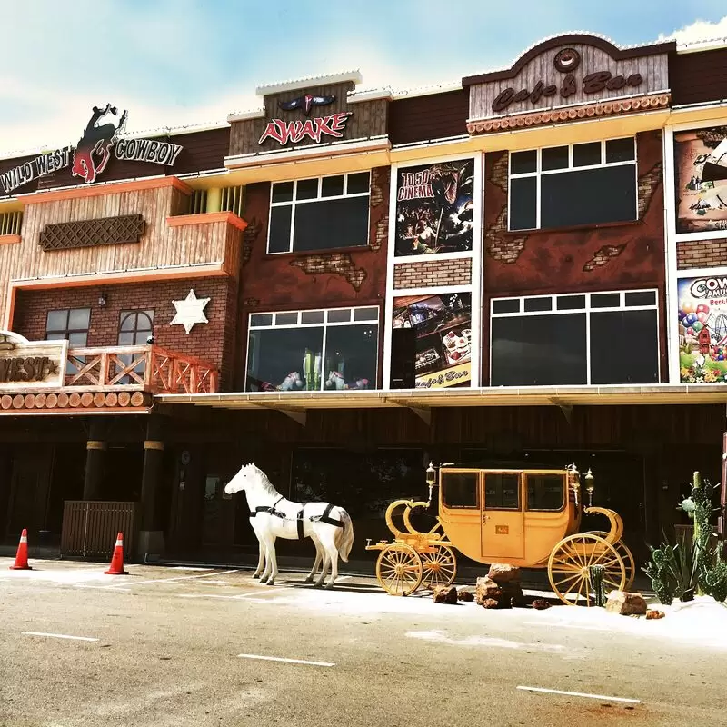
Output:
[[[211,298],[204,308],[208,324],[195,324],[190,334],[182,325],[170,325],[176,313],[174,300],[182,300],[190,288],[198,298]],[[101,291],[106,304],[99,305]],[[122,311],[154,310],[154,343],[214,364],[222,374],[222,386],[232,380],[236,284],[227,277],[162,280],[139,284],[21,290],[15,300],[13,330],[32,341],[45,338],[48,311],[91,308],[88,331],[90,347],[115,346]]]

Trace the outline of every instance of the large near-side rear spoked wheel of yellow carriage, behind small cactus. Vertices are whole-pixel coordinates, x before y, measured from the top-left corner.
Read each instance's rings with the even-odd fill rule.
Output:
[[[626,584],[626,567],[611,543],[593,533],[569,535],[558,543],[548,559],[548,579],[563,603],[575,606],[595,604],[591,591],[591,566],[603,566],[606,593],[622,591]]]

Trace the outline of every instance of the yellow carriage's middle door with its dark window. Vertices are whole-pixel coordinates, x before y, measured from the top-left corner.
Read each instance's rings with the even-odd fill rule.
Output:
[[[484,472],[482,488],[483,561],[522,558],[525,553],[522,473]]]

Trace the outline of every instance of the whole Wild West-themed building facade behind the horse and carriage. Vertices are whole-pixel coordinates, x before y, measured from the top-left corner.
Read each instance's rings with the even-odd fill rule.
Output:
[[[365,557],[430,460],[575,462],[644,553],[722,476],[725,59],[561,35],[150,138],[95,108],[0,160],[2,534],[76,553],[85,513],[136,554],[234,559],[224,483],[254,461],[344,505]]]

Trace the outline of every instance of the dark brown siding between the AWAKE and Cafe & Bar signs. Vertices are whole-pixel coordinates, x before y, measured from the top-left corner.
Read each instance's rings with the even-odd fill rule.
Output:
[[[389,105],[389,138],[413,144],[467,134],[468,112],[467,90],[402,98]]]

